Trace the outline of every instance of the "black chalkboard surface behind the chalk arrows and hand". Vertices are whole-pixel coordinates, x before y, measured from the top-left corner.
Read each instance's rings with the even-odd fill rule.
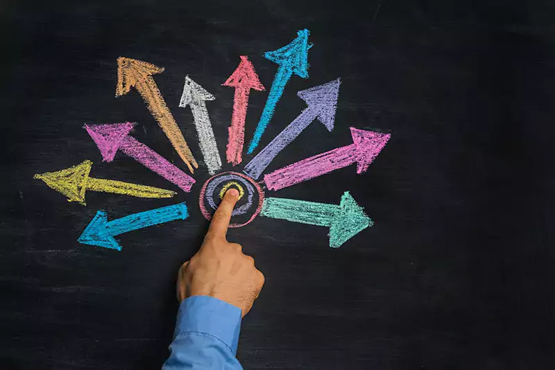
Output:
[[[552,1],[4,1],[1,69],[1,369],[157,369],[178,304],[176,271],[207,227],[210,177],[185,76],[225,161],[234,89],[248,55],[250,141],[278,64],[264,58],[310,31],[309,78],[293,75],[261,144],[341,78],[335,127],[311,123],[273,171],[391,134],[366,173],[341,168],[267,191],[339,204],[350,191],[375,224],[339,248],[326,227],[257,217],[230,229],[266,276],[244,319],[246,369],[553,369],[555,4]],[[143,60],[199,163],[185,193],[124,155],[111,163],[84,124],[136,122],[133,137],[189,173],[143,98],[114,98],[117,58]],[[246,148],[245,148],[246,149]],[[33,179],[89,159],[91,177],[176,191],[141,199],[88,191],[86,206]],[[190,173],[189,173],[190,174]],[[109,220],[185,202],[187,220],[78,243]]]

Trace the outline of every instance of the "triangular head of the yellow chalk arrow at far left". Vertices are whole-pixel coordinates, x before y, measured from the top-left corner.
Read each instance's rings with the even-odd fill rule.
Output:
[[[84,161],[65,170],[39,173],[35,175],[35,179],[41,179],[46,185],[65,195],[69,202],[85,205],[85,191],[91,167],[92,161]]]

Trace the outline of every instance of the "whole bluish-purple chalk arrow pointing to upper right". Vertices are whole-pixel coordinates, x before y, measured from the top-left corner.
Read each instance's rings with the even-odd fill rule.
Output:
[[[289,126],[280,132],[278,136],[262,149],[244,168],[244,173],[257,179],[262,175],[264,169],[279,152],[288,146],[302,130],[318,119],[328,131],[334,129],[335,112],[337,110],[337,96],[339,94],[341,79],[325,83],[324,85],[312,87],[311,89],[298,91],[297,96],[305,100],[306,107],[298,116],[289,123]]]

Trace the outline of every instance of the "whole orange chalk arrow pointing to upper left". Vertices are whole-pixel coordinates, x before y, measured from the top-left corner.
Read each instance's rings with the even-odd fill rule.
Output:
[[[143,62],[142,60],[124,57],[117,58],[116,96],[125,95],[130,91],[131,87],[135,87],[146,103],[146,107],[158,122],[158,125],[162,127],[173,148],[176,149],[181,159],[185,161],[191,173],[194,173],[193,167],[198,168],[198,164],[193,157],[193,153],[191,153],[191,149],[187,146],[187,141],[185,141],[176,120],[169,111],[164,98],[162,98],[156,81],[152,77],[152,75],[162,73],[163,71],[163,68],[156,67],[154,64]]]

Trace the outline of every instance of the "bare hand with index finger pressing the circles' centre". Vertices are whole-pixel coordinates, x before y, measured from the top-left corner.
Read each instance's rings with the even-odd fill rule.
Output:
[[[221,299],[241,308],[244,317],[257,299],[264,275],[255,267],[255,260],[242,252],[241,245],[225,238],[239,191],[231,188],[223,196],[203,245],[178,272],[177,294],[181,302],[194,295]]]

